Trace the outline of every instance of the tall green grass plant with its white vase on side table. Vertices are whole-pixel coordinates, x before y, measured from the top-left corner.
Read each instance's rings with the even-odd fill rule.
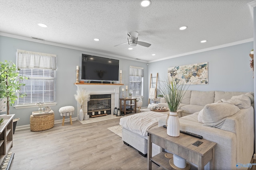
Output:
[[[170,78],[166,82],[160,84],[160,92],[164,96],[169,107],[170,113],[167,117],[167,135],[178,137],[180,136],[180,122],[177,117],[177,110],[182,98],[187,90],[187,84],[180,83],[179,80]]]

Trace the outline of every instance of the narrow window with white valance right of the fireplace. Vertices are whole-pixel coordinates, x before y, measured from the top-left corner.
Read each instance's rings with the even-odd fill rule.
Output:
[[[130,66],[130,93],[132,97],[143,96],[143,70],[141,67]]]

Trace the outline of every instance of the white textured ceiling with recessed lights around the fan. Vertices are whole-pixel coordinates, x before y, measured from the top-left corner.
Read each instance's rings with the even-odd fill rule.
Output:
[[[0,32],[156,61],[253,38],[251,1],[151,0],[142,8],[140,0],[1,0]],[[184,25],[188,28],[180,31]],[[138,41],[152,45],[114,47],[127,42],[130,31],[139,33]],[[204,39],[208,41],[200,43]]]

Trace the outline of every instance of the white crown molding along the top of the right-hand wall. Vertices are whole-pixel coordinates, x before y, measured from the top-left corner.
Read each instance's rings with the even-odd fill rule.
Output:
[[[188,53],[182,53],[182,54],[178,54],[178,55],[173,55],[173,56],[166,57],[166,58],[163,58],[163,59],[152,60],[152,61],[149,61],[148,63],[153,63],[153,62],[156,62],[156,61],[172,59],[172,58],[175,58],[175,57],[181,57],[181,56],[190,55],[190,54],[201,53],[201,52],[204,52],[204,51],[210,51],[210,50],[214,50],[214,49],[221,49],[221,48],[224,48],[224,47],[230,47],[230,46],[233,46],[233,45],[248,43],[248,42],[251,42],[251,41],[253,41],[253,38],[245,39],[245,40],[242,40],[242,41],[236,41],[236,42],[228,43],[228,44],[224,44],[224,45],[218,45],[218,46],[210,47],[210,48],[206,48],[206,49],[200,49],[200,50],[196,50],[196,51],[191,51],[191,52],[188,52]]]

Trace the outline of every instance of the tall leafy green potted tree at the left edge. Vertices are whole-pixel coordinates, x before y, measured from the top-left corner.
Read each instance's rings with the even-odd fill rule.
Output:
[[[20,86],[25,85],[19,80],[28,79],[28,77],[20,76],[18,70],[20,69],[16,68],[12,61],[0,62],[0,98],[6,98],[7,115],[9,115],[10,106],[13,106],[18,96],[26,96],[26,94],[19,92]],[[13,134],[18,120],[19,118],[13,120]]]

